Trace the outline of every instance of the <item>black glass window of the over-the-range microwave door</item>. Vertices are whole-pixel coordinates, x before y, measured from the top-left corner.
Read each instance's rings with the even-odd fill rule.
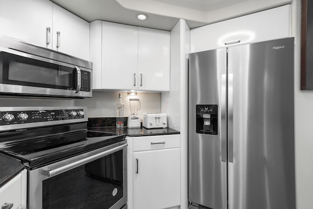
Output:
[[[73,90],[73,68],[0,52],[3,84]]]

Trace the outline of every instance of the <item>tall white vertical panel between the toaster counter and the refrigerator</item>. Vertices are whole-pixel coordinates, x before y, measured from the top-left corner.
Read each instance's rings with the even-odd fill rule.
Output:
[[[171,91],[163,92],[162,113],[168,115],[168,126],[180,131],[181,209],[188,207],[188,54],[190,29],[180,20],[171,31]]]

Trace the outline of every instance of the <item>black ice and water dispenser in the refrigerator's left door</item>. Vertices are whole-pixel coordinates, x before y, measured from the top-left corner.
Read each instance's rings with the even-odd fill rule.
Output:
[[[217,105],[196,105],[196,133],[217,135],[217,118]]]

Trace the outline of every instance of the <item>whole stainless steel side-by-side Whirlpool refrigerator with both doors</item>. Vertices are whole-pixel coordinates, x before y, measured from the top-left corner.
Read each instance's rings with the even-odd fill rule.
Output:
[[[190,209],[295,209],[294,38],[190,54]]]

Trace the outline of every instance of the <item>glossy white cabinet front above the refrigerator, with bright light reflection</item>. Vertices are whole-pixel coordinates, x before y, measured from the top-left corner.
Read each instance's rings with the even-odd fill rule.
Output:
[[[290,37],[290,5],[192,29],[190,53]]]

